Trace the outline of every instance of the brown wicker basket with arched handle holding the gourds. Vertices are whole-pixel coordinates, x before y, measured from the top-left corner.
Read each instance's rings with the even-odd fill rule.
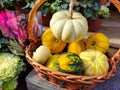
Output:
[[[38,64],[31,57],[33,51],[41,44],[41,39],[36,39],[33,30],[32,24],[34,20],[35,13],[40,5],[44,3],[44,0],[37,0],[34,7],[32,8],[29,18],[28,18],[28,36],[30,40],[30,45],[26,47],[26,59],[29,64],[31,64],[35,71],[38,73],[39,77],[46,79],[55,86],[64,88],[65,90],[91,90],[96,86],[97,83],[104,82],[105,80],[114,76],[117,63],[120,61],[120,50],[115,55],[107,54],[110,64],[109,72],[102,76],[82,76],[82,75],[72,75],[66,74],[59,71],[54,71],[48,69],[47,67]]]

